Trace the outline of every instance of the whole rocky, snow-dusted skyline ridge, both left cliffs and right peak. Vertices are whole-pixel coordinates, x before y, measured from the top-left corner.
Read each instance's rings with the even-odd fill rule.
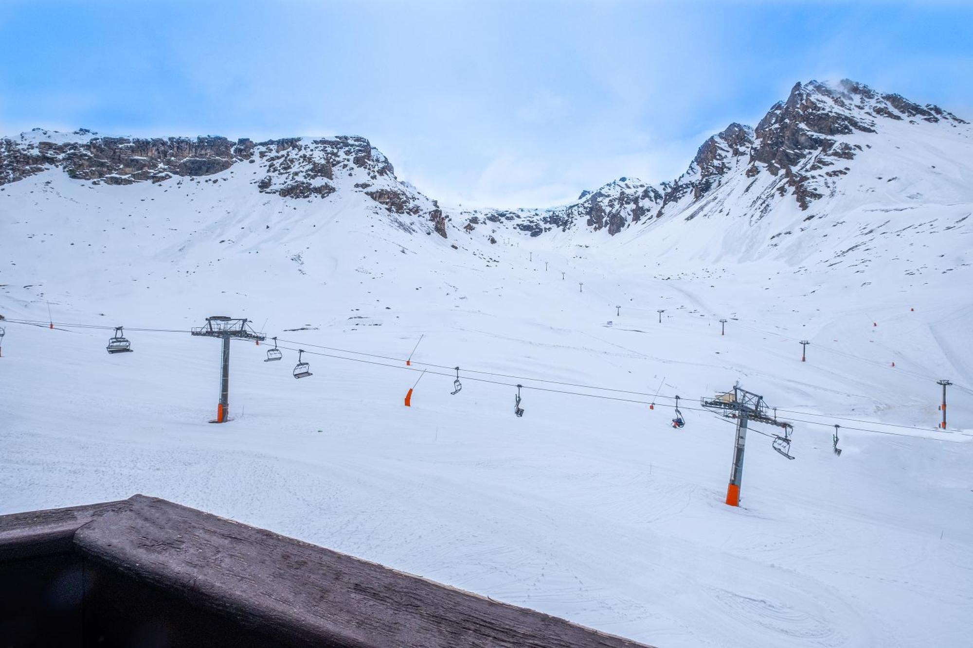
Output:
[[[688,221],[726,214],[731,203],[737,211],[745,205],[750,225],[775,210],[789,210],[788,204],[808,211],[807,218],[812,219],[817,212],[834,208],[822,198],[841,198],[861,189],[843,176],[859,166],[858,159],[878,156],[870,151],[873,147],[918,149],[945,138],[965,155],[971,150],[971,132],[965,121],[932,104],[921,106],[899,94],[881,94],[848,80],[833,85],[811,81],[796,84],[756,128],[734,123],[707,138],[675,180],[654,186],[623,177],[594,192],[582,192],[570,204],[547,209],[444,213],[436,200],[399,181],[391,162],[369,140],[357,136],[255,143],[220,136],[146,139],[103,137],[84,128],[74,133],[35,128],[0,139],[0,185],[53,167],[92,184],[161,183],[173,177],[202,176],[217,182],[219,178],[211,176],[256,163],[262,175],[252,184],[261,193],[311,200],[363,194],[408,232],[447,237],[448,223],[455,220],[458,229],[493,243],[502,233],[559,232],[573,237],[607,231],[614,236],[634,228],[637,234],[664,216]],[[934,144],[932,148],[943,147]],[[932,163],[912,168],[908,157],[899,163],[891,174],[896,179],[928,175],[927,169],[943,167]],[[878,186],[867,190],[877,191]]]

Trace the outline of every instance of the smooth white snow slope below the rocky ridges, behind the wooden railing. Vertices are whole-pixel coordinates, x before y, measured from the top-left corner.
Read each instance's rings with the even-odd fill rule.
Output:
[[[667,261],[648,234],[481,245],[234,182],[192,190],[193,211],[171,182],[6,186],[8,318],[47,320],[48,302],[54,322],[130,328],[226,314],[292,342],[276,363],[234,343],[233,420],[214,425],[218,341],[128,331],[134,352],[109,355],[111,331],[8,323],[0,513],[157,495],[666,648],[969,645],[973,397],[951,387],[937,430],[935,384],[973,385],[968,266],[716,269]],[[401,359],[420,335],[414,361],[459,365],[460,393],[427,374],[404,407],[422,366],[401,360],[306,355],[314,375],[291,377],[292,348]],[[650,410],[528,378],[663,386]],[[824,424],[795,422],[793,461],[753,425],[731,508],[733,423],[697,409],[737,380]]]

